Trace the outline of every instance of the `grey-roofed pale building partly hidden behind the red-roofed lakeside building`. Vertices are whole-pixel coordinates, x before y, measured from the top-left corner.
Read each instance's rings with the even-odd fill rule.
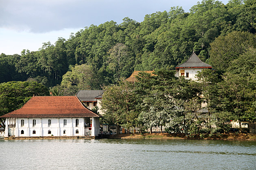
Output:
[[[102,115],[100,102],[102,101],[103,93],[104,90],[79,90],[76,96],[89,109],[98,106],[98,112]]]

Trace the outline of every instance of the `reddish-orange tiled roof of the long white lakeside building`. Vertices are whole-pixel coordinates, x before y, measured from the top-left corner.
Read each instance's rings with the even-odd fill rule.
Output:
[[[76,96],[34,96],[22,108],[2,118],[100,117],[86,108]]]

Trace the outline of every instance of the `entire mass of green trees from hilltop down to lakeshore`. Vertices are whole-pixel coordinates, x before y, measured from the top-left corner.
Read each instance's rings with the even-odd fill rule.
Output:
[[[41,83],[53,96],[104,86],[103,121],[140,130],[165,125],[169,132],[219,133],[228,132],[230,119],[256,121],[255,9],[255,0],[202,0],[189,13],[171,7],[141,23],[126,17],[43,43],[38,51],[1,54],[0,83],[10,82],[0,86],[0,114],[33,94],[48,95]],[[216,71],[203,70],[197,82],[174,77],[171,70],[192,51]],[[142,72],[135,84],[121,81],[134,70],[157,76]],[[201,103],[208,113],[200,112]]]

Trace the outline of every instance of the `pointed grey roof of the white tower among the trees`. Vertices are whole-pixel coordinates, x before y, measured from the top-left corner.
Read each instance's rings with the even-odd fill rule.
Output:
[[[212,68],[209,64],[202,62],[197,55],[193,52],[188,60],[178,66],[177,68]]]

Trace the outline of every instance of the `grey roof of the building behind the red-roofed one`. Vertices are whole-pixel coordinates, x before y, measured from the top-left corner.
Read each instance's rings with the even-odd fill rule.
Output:
[[[76,94],[80,101],[89,102],[97,101],[97,99],[102,99],[104,90],[79,90]]]

